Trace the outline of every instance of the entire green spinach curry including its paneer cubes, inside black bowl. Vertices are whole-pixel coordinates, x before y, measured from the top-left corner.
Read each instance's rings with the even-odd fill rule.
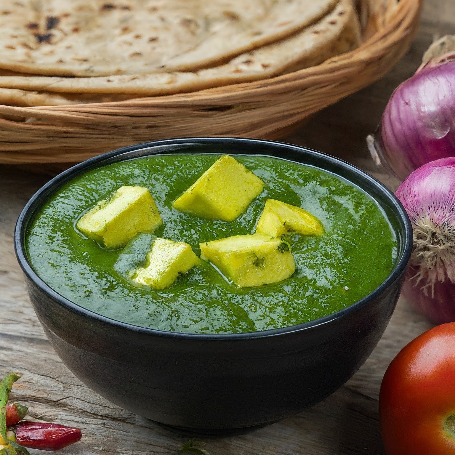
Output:
[[[174,332],[276,329],[346,308],[389,276],[377,203],[319,168],[169,154],[75,177],[26,238],[40,278],[111,319]]]

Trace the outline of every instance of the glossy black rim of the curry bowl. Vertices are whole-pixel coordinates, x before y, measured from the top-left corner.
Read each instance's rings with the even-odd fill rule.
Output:
[[[45,200],[61,185],[70,181],[72,178],[76,177],[76,175],[86,172],[89,169],[93,169],[99,167],[98,165],[107,165],[111,164],[112,162],[119,162],[119,161],[127,161],[129,159],[134,159],[136,156],[129,156],[132,152],[144,152],[150,151],[149,153],[141,154],[137,157],[146,157],[152,155],[159,155],[161,152],[165,152],[170,154],[169,146],[179,146],[179,145],[200,145],[200,144],[217,144],[217,143],[224,143],[224,142],[236,142],[239,144],[255,144],[255,145],[268,145],[272,147],[283,147],[289,151],[296,152],[297,154],[306,154],[306,155],[313,155],[317,159],[322,159],[322,161],[330,162],[332,165],[335,165],[344,171],[351,172],[360,177],[365,182],[369,182],[370,184],[374,185],[374,187],[383,193],[383,195],[389,200],[390,205],[393,207],[394,213],[397,215],[397,219],[404,224],[404,236],[401,239],[403,242],[402,254],[398,261],[395,263],[394,268],[389,273],[389,276],[381,283],[377,288],[375,288],[371,293],[364,296],[360,300],[352,303],[346,308],[343,308],[335,313],[331,313],[327,316],[322,318],[313,319],[312,321],[295,324],[287,327],[282,327],[278,329],[267,329],[267,330],[260,330],[255,332],[242,332],[242,333],[234,333],[234,334],[194,334],[194,333],[185,333],[185,332],[172,332],[167,330],[160,330],[160,329],[152,329],[149,327],[142,327],[135,324],[129,324],[126,322],[117,321],[116,319],[109,318],[107,316],[103,316],[101,314],[95,313],[87,308],[84,308],[77,303],[72,302],[70,299],[62,296],[61,294],[57,293],[54,289],[52,289],[48,284],[46,284],[39,275],[33,269],[25,249],[25,229],[28,226],[28,223],[32,219],[32,215],[35,214],[37,208],[41,207]],[[196,143],[196,144],[195,144]],[[174,153],[179,153],[178,150],[174,151]],[[180,152],[184,153],[184,152]],[[204,153],[204,152],[200,152]],[[206,152],[210,153],[210,152]],[[245,153],[245,155],[250,155],[253,153]],[[127,155],[123,158],[124,155]],[[257,154],[261,155],[261,154]],[[262,156],[270,156],[270,157],[278,157],[274,155],[268,155],[266,153],[262,154]],[[112,160],[112,158],[116,158]],[[288,158],[278,157],[285,161],[295,162]],[[299,164],[304,164],[300,162]],[[310,164],[311,166],[311,164]],[[315,166],[318,167],[318,166]],[[324,170],[324,168],[319,167],[320,169]],[[325,169],[326,172],[331,172]],[[331,172],[333,173],[333,172]],[[335,173],[336,175],[336,173]],[[352,183],[353,185],[357,185],[355,182],[352,182],[347,177],[343,177],[339,175],[340,178],[347,180],[348,182]],[[370,194],[365,188],[360,187],[364,192],[369,194],[370,197],[379,203],[377,198],[375,198],[372,194]],[[192,339],[192,340],[202,340],[202,339],[210,339],[210,340],[240,340],[240,339],[258,339],[258,338],[268,338],[273,336],[278,336],[282,334],[292,334],[295,332],[300,332],[303,330],[314,329],[321,325],[329,324],[332,322],[336,322],[339,319],[344,318],[345,316],[358,311],[360,308],[364,307],[367,303],[369,303],[374,298],[378,297],[382,294],[386,289],[388,289],[392,283],[396,279],[399,278],[401,273],[404,272],[406,269],[410,255],[412,252],[413,246],[413,234],[412,234],[412,225],[410,219],[401,204],[398,198],[394,195],[392,191],[389,190],[382,182],[379,182],[375,177],[371,176],[367,172],[359,169],[358,167],[341,160],[337,157],[333,157],[331,155],[318,152],[316,150],[310,149],[308,147],[302,147],[294,144],[289,144],[286,142],[278,142],[278,141],[269,141],[265,139],[250,139],[250,138],[242,138],[242,137],[183,137],[177,139],[164,139],[159,141],[151,141],[151,142],[142,142],[138,144],[134,144],[127,147],[121,147],[115,149],[111,152],[106,152],[96,157],[90,158],[86,161],[76,164],[75,166],[66,169],[65,171],[59,173],[56,177],[53,177],[49,182],[45,183],[35,194],[30,198],[30,200],[26,203],[25,207],[20,212],[20,215],[17,219],[15,225],[15,232],[14,232],[14,247],[15,247],[15,254],[17,261],[19,262],[22,271],[24,272],[25,276],[40,290],[46,294],[48,294],[51,298],[53,298],[58,304],[62,307],[69,309],[73,313],[77,313],[79,316],[94,320],[96,322],[100,322],[102,324],[107,324],[114,326],[116,328],[131,330],[132,332],[138,334],[148,334],[148,335],[155,335],[165,338],[178,338],[178,339]]]

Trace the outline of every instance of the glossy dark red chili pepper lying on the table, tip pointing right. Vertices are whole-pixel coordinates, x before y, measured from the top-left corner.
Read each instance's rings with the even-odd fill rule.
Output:
[[[60,450],[82,437],[79,428],[41,422],[19,422],[13,430],[16,442],[29,449]]]

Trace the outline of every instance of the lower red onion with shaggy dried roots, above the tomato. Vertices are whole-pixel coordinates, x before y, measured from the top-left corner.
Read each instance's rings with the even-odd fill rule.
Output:
[[[414,250],[404,297],[436,324],[455,321],[455,157],[425,164],[396,196],[410,217]]]

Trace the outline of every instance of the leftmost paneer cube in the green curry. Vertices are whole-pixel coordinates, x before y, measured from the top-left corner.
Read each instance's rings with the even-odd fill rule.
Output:
[[[137,233],[153,233],[162,222],[147,188],[123,186],[84,213],[76,226],[106,248],[121,248]]]

